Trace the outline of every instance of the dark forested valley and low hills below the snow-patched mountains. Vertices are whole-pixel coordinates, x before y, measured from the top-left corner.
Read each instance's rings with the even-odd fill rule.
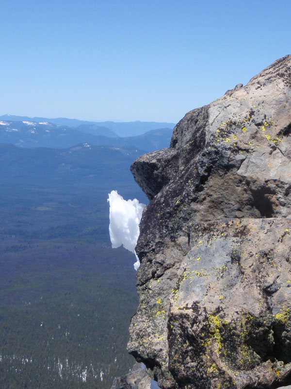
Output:
[[[0,146],[1,389],[105,389],[132,366],[135,258],[111,248],[107,197],[146,202],[142,153]]]

